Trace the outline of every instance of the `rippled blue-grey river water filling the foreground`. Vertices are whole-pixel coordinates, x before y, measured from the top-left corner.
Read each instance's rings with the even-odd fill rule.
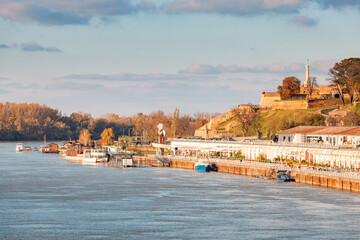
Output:
[[[1,239],[360,239],[360,194],[15,145],[0,143]]]

